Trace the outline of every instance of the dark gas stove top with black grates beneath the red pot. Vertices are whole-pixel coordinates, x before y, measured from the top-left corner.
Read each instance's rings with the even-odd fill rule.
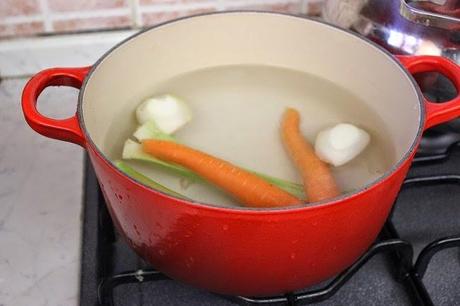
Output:
[[[425,94],[448,99],[443,82]],[[80,305],[459,305],[459,143],[458,120],[428,131],[373,246],[329,281],[267,298],[215,295],[149,266],[116,233],[86,160]]]

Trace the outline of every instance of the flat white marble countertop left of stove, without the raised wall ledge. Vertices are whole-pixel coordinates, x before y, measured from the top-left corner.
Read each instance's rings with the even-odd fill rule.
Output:
[[[0,83],[0,305],[78,302],[83,150],[25,123],[25,79]],[[43,93],[40,109],[75,112],[75,89]]]

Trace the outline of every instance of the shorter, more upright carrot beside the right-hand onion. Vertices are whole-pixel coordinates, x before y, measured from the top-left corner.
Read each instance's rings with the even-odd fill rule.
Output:
[[[317,202],[339,195],[329,167],[316,156],[313,147],[302,136],[299,123],[299,112],[288,108],[281,122],[281,135],[286,150],[302,175],[308,201]]]

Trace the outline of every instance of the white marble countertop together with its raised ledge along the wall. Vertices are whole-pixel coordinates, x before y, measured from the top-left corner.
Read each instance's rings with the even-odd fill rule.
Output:
[[[134,32],[0,41],[0,306],[78,304],[84,151],[27,125],[22,88],[42,69],[90,65]],[[77,95],[46,89],[39,110],[68,117]]]

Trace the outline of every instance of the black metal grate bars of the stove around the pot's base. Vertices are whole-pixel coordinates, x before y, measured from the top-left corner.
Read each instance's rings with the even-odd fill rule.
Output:
[[[433,175],[409,178],[405,181],[403,188],[414,185],[456,183],[460,185],[460,175]],[[395,280],[401,282],[406,287],[410,300],[413,305],[434,305],[429,293],[423,283],[423,277],[433,256],[444,249],[460,248],[460,235],[441,238],[427,245],[418,255],[413,265],[413,247],[404,240],[400,239],[398,231],[395,229],[391,220],[388,220],[379,241],[376,242],[364,255],[361,256],[351,267],[338,275],[329,284],[320,289],[301,293],[289,293],[284,296],[268,298],[250,297],[227,297],[222,296],[239,305],[306,305],[324,301],[333,296],[342,286],[344,286],[353,275],[364,266],[372,257],[379,253],[390,255],[395,270]],[[113,291],[115,287],[129,283],[143,283],[169,278],[161,272],[151,269],[141,269],[119,273],[105,278],[98,288],[98,300],[100,305],[112,306]]]

